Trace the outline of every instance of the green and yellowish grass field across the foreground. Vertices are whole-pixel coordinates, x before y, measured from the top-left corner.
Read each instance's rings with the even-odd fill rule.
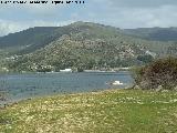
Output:
[[[176,133],[177,92],[110,90],[21,101],[2,133]]]

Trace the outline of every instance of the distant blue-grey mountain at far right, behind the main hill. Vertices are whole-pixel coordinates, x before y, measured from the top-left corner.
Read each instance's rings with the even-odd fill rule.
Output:
[[[124,33],[153,41],[177,41],[177,28],[125,29]]]

